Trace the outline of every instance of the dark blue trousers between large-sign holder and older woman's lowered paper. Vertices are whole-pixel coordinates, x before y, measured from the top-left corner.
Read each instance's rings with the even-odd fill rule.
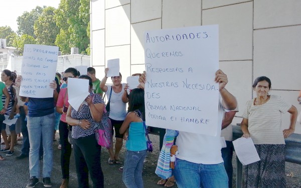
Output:
[[[222,157],[224,160],[224,166],[229,179],[229,188],[232,188],[232,177],[233,177],[233,167],[232,167],[232,157],[233,157],[233,143],[232,141],[226,141],[227,147],[222,148]]]

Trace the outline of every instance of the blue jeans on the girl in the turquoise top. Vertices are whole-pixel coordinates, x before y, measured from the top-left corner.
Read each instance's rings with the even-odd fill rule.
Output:
[[[143,187],[142,168],[146,153],[146,149],[142,151],[126,151],[122,173],[122,180],[126,187]]]

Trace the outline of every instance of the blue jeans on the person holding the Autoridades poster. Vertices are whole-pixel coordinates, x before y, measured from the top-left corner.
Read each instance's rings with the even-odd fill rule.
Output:
[[[223,162],[219,164],[197,164],[176,159],[173,170],[179,188],[226,188],[228,176]]]

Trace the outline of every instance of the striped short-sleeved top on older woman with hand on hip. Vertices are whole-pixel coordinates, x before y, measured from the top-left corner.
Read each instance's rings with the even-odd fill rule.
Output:
[[[281,118],[290,107],[276,95],[271,95],[262,105],[254,105],[254,99],[247,101],[242,117],[248,119],[248,130],[254,144],[285,144]]]

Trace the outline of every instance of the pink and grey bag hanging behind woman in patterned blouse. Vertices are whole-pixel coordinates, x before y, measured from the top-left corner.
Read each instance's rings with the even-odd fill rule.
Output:
[[[94,95],[92,96],[92,100],[94,100]],[[96,122],[95,129],[95,137],[98,145],[101,145],[107,149],[111,147],[112,144],[112,124],[109,119],[109,113],[106,109],[103,109],[103,114],[101,120]]]

